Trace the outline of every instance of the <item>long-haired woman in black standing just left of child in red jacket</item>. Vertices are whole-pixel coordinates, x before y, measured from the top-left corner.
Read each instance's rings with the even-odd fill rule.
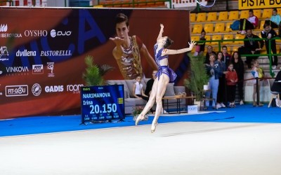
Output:
[[[226,62],[223,61],[223,52],[218,52],[218,66],[220,67],[221,71],[226,71]],[[223,102],[227,102],[226,100],[226,76],[221,73],[218,76],[218,94],[216,98],[216,109],[221,107],[225,108],[226,105]]]

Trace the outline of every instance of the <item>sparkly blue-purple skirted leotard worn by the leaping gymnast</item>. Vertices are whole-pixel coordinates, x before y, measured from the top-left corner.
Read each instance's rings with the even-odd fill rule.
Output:
[[[160,65],[160,60],[165,59],[165,58],[168,59],[169,57],[168,57],[168,55],[162,56],[162,50],[164,50],[164,48],[161,48],[160,50],[158,50],[158,52],[157,52],[157,48],[158,48],[158,45],[155,44],[154,45],[155,62],[158,66],[157,77],[159,79],[159,77],[162,75],[162,73],[164,73],[169,77],[170,82],[173,82],[176,79],[176,73],[171,68],[169,68],[169,66]]]

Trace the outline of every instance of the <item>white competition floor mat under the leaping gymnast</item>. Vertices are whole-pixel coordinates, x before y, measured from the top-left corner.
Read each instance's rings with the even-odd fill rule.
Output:
[[[0,138],[0,174],[280,175],[281,124],[167,123]]]

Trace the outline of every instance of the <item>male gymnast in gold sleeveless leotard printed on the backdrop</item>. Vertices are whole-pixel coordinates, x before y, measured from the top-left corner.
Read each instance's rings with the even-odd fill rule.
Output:
[[[148,49],[138,36],[129,36],[128,17],[119,13],[115,19],[117,36],[110,38],[116,45],[112,54],[125,80],[133,80],[143,75],[141,55],[145,57],[150,67],[155,70],[157,65]]]

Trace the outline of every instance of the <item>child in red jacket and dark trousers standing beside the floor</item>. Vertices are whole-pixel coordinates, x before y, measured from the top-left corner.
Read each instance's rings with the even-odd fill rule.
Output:
[[[230,107],[235,107],[235,92],[236,84],[238,82],[238,76],[236,71],[233,69],[233,64],[228,65],[228,73],[226,73],[226,83],[228,90],[228,102]]]

